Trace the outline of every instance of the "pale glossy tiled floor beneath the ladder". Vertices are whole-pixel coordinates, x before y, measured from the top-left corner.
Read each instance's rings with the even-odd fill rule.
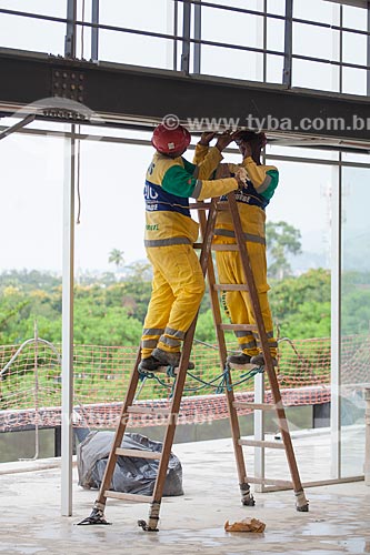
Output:
[[[303,480],[318,480],[314,460],[327,458],[328,435],[294,440]],[[108,500],[112,526],[76,526],[90,514],[96,492],[73,486],[73,516],[60,516],[60,471],[39,470],[0,475],[0,553],[14,554],[310,554],[370,553],[370,488],[363,482],[306,490],[309,513],[298,513],[291,491],[256,493],[254,507],[240,504],[230,440],[173,446],[183,467],[184,495],[163,498],[160,531],[138,527],[147,504]],[[273,452],[274,453],[274,452]],[[272,477],[288,478],[276,455],[269,457]],[[46,464],[48,464],[47,462]],[[8,467],[14,467],[8,465]],[[0,465],[1,470],[6,466]],[[310,468],[312,472],[310,472]],[[226,521],[256,517],[262,534],[230,534]]]

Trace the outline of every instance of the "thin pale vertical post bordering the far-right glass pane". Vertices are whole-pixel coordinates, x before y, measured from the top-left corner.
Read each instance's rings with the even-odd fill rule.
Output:
[[[341,154],[340,154],[341,162]],[[341,477],[340,367],[341,367],[341,251],[342,167],[333,168],[331,238],[331,477]]]

